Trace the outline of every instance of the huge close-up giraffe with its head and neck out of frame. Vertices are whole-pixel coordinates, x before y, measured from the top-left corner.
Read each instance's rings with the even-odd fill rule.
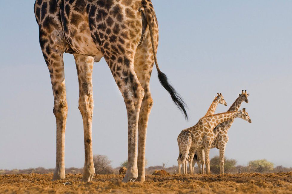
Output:
[[[92,181],[95,172],[91,139],[92,71],[93,62],[99,62],[102,57],[112,72],[127,109],[128,170],[123,181],[145,181],[146,131],[153,106],[149,80],[154,62],[160,83],[188,119],[185,102],[158,67],[158,23],[151,1],[36,0],[34,13],[54,96],[57,149],[53,180],[65,178],[67,100],[63,54],[70,53],[76,62],[79,110],[84,127],[82,181]]]

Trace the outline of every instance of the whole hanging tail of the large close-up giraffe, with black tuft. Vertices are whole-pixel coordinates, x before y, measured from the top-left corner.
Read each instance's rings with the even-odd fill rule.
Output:
[[[148,1],[148,3],[150,3]],[[172,85],[170,85],[167,76],[160,71],[157,63],[157,57],[156,57],[156,49],[154,45],[154,38],[153,38],[153,26],[156,21],[156,16],[153,10],[152,6],[148,6],[146,1],[142,1],[142,7],[140,8],[140,11],[142,13],[142,19],[146,20],[146,22],[149,25],[149,32],[150,32],[150,38],[151,38],[151,44],[152,44],[152,50],[153,50],[153,56],[154,56],[154,61],[157,69],[157,74],[158,74],[158,80],[161,83],[161,85],[168,91],[170,94],[174,104],[180,109],[180,111],[184,114],[185,120],[188,120],[188,113],[186,111],[187,104],[184,102],[182,99],[181,95],[177,93],[177,91],[174,89]],[[153,13],[150,15],[150,13]],[[143,18],[144,17],[144,18]],[[158,27],[157,27],[158,30]]]

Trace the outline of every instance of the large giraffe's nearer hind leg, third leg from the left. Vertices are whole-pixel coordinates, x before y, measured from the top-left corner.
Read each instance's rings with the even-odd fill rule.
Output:
[[[127,172],[123,182],[135,181],[138,177],[137,167],[137,135],[139,111],[144,98],[144,89],[142,88],[134,70],[134,57],[129,55],[107,56],[105,55],[113,77],[124,97],[127,118],[128,118],[128,164]],[[113,62],[112,59],[116,61]],[[122,64],[121,64],[122,63]],[[119,71],[117,71],[119,70]]]

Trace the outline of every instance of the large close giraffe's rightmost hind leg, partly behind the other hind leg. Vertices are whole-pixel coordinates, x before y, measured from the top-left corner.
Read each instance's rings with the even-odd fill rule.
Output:
[[[145,181],[145,145],[146,145],[146,132],[148,118],[151,108],[153,106],[153,100],[151,98],[149,81],[153,68],[154,57],[152,51],[152,45],[150,37],[137,48],[134,58],[134,69],[138,77],[139,83],[145,91],[144,98],[142,100],[139,123],[138,123],[138,178],[136,181]]]

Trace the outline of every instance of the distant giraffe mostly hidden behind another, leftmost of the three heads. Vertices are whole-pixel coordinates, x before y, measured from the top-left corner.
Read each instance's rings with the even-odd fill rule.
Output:
[[[215,96],[214,96],[214,97],[215,97]],[[208,111],[207,111],[207,113],[205,114],[204,117],[206,117],[206,116],[210,116],[210,115],[213,115],[213,114],[215,113],[215,111],[216,111],[216,108],[217,108],[218,104],[223,104],[223,105],[227,106],[227,103],[226,103],[226,101],[225,101],[225,99],[224,99],[222,93],[219,94],[219,92],[217,93],[217,96],[216,96],[216,97],[214,98],[214,100],[212,101],[212,103],[211,103],[211,105],[210,105],[210,107],[209,107],[209,109],[208,109]],[[200,165],[199,163],[202,161],[202,159],[201,159],[200,157],[203,157],[203,156],[202,156],[202,154],[198,154],[198,153],[197,153],[196,156],[198,156],[198,158],[196,158],[196,161],[198,162],[198,166],[199,166],[199,165]],[[190,155],[190,157],[189,157],[189,159],[188,159],[189,162],[190,162],[190,160],[193,160],[193,158],[194,158],[194,155]],[[177,158],[177,161],[178,161],[179,166],[180,166],[180,161],[181,161],[180,155],[179,155],[179,157]],[[194,165],[195,165],[195,164],[193,164],[192,167],[194,167]],[[185,165],[185,166],[187,166],[187,165]],[[185,171],[187,171],[187,167],[186,167]],[[190,171],[193,172],[192,169],[190,169]],[[191,174],[192,174],[192,173],[191,173]]]

